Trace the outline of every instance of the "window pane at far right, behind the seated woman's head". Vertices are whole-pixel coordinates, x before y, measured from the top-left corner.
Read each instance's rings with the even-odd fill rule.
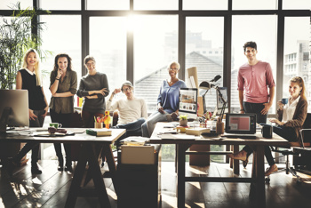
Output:
[[[286,17],[284,31],[283,98],[289,97],[289,80],[301,76],[307,88],[308,112],[311,110],[310,18]]]

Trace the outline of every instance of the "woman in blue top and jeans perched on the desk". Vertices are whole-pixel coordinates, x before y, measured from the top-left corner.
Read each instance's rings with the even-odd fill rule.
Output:
[[[171,78],[170,80],[163,80],[157,97],[157,111],[151,114],[147,121],[141,125],[143,137],[150,137],[154,132],[156,123],[167,121],[168,115],[173,119],[177,118],[179,113],[179,89],[187,87],[186,83],[177,77],[179,68],[178,62],[171,62],[167,68]]]

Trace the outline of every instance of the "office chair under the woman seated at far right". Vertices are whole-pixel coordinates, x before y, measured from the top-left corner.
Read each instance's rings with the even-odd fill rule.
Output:
[[[286,149],[279,150],[278,148],[270,147],[273,152],[286,156],[286,166],[283,169],[280,168],[279,171],[285,171],[286,174],[291,172],[293,176],[297,177],[297,183],[301,182],[297,172],[311,175],[311,113],[307,113],[305,123],[299,134],[298,141],[289,142],[289,147],[281,147]],[[290,156],[293,156],[293,167],[290,164]],[[270,177],[267,176],[266,182],[269,181]]]

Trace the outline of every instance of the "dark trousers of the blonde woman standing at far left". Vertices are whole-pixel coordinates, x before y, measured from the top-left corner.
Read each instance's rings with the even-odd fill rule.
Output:
[[[34,114],[37,116],[36,120],[29,120],[30,127],[42,127],[44,125],[44,115],[45,110],[34,110]],[[38,162],[39,157],[39,149],[40,143],[36,141],[28,141],[23,148],[20,149],[20,152],[13,157],[13,161],[17,164],[20,163],[21,158],[26,156],[26,154],[32,150],[31,152],[31,165],[36,164]]]

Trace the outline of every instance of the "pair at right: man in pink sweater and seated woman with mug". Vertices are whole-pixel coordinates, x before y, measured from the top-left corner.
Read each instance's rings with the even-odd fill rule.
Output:
[[[267,112],[275,98],[275,81],[272,69],[269,63],[257,60],[258,51],[255,42],[245,43],[243,50],[248,62],[239,68],[237,78],[240,113],[254,113],[257,115],[257,123],[267,125]],[[288,90],[290,93],[288,103],[277,101],[277,118],[272,118],[269,121],[276,124],[273,126],[273,132],[285,140],[297,141],[299,140],[299,130],[307,117],[304,80],[299,76],[292,77]],[[228,156],[242,160],[245,166],[251,153],[251,147],[245,146],[241,151]],[[268,176],[278,169],[268,146],[265,146],[265,156],[269,164],[265,176]]]

